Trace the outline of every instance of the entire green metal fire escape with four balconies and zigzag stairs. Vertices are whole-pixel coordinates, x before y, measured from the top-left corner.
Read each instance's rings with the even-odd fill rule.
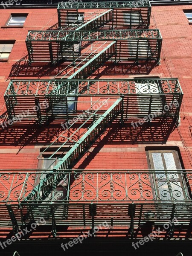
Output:
[[[85,9],[90,10],[88,15]],[[8,210],[11,222],[8,223],[6,213],[1,218],[6,225],[12,224],[15,233],[20,225],[40,215],[47,225],[52,225],[52,236],[56,236],[57,225],[94,227],[104,220],[111,226],[130,226],[131,237],[134,227],[147,221],[162,225],[175,216],[180,223],[189,223],[189,183],[184,199],[168,191],[170,198],[165,204],[158,192],[161,179],[155,172],[73,170],[112,122],[123,125],[160,111],[159,118],[170,118],[177,124],[180,108],[165,111],[164,106],[174,100],[180,106],[183,93],[178,79],[87,79],[109,62],[160,64],[162,37],[158,29],[148,29],[150,14],[151,6],[146,1],[60,3],[58,30],[29,31],[26,47],[30,65],[62,62],[67,68],[60,79],[11,80],[4,95],[9,118],[38,106],[38,111],[29,113],[26,119],[35,119],[41,125],[59,119],[70,128],[74,124],[79,128],[70,136],[68,129],[64,131],[38,156],[41,159],[42,154],[60,143],[47,157],[55,160],[52,170],[22,172],[21,178],[19,173],[4,174],[8,176],[3,186],[6,188],[8,182],[11,188],[2,195],[1,207],[4,212]],[[91,97],[95,102],[84,107],[82,113],[77,108],[79,99],[90,101]],[[190,173],[180,174],[183,180],[191,179]],[[172,172],[164,175],[174,184]],[[15,194],[16,191],[19,192]],[[181,201],[185,201],[184,206]],[[171,228],[170,235],[173,232]]]

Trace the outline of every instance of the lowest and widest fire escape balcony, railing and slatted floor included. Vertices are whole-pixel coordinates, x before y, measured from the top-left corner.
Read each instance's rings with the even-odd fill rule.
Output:
[[[52,226],[53,235],[60,225],[95,227],[107,221],[133,232],[146,223],[176,218],[189,225],[192,219],[191,170],[1,170],[0,184],[0,226],[15,232],[39,218]]]

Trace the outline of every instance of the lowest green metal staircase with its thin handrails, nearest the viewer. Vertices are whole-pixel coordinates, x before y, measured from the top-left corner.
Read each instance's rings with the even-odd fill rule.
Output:
[[[79,119],[82,119],[82,117],[84,117],[86,114],[89,114],[89,117],[79,126],[79,128],[73,134],[71,134],[70,137],[66,137],[66,132],[64,132],[38,156],[38,159],[41,159],[42,155],[47,152],[47,150],[51,146],[57,145],[60,139],[65,140],[65,142],[59,148],[57,148],[57,150],[51,156],[49,156],[49,158],[44,158],[47,160],[55,160],[55,163],[57,162],[53,170],[50,171],[50,173],[48,174],[49,178],[47,179],[47,176],[45,175],[45,177],[40,180],[38,186],[36,186],[23,200],[23,203],[24,201],[32,200],[43,202],[46,198],[48,198],[49,195],[52,193],[54,187],[56,187],[56,185],[59,184],[59,182],[63,179],[62,175],[61,179],[58,175],[55,180],[55,175],[51,175],[51,173],[56,172],[56,170],[60,169],[72,169],[76,162],[80,160],[81,157],[89,150],[91,145],[95,143],[95,141],[105,131],[110,123],[113,122],[114,119],[120,116],[120,120],[122,120],[123,97],[119,97],[118,99],[116,99],[115,102],[113,100],[111,107],[108,108],[108,110],[104,113],[100,113],[103,106],[105,106],[106,103],[109,103],[110,100],[111,99],[106,99],[105,101],[103,101],[102,104],[100,104],[100,107],[94,113],[91,112],[90,108],[87,109],[87,111],[85,111],[83,115],[79,117]],[[98,102],[99,100],[95,104],[97,104]],[[76,122],[78,122],[79,119],[77,119]],[[76,134],[79,133],[80,129],[87,124],[89,126],[87,129],[84,129],[81,137],[78,140],[74,140],[74,137],[76,137]],[[73,146],[69,149],[69,151],[66,152],[66,150],[64,151],[64,146],[66,146],[69,142]],[[61,150],[64,152],[58,157],[57,154],[58,152],[61,152]]]

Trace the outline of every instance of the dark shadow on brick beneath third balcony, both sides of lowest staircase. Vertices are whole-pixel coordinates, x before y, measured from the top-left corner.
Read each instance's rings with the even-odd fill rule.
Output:
[[[94,157],[98,148],[104,145],[116,144],[143,144],[143,143],[166,143],[171,132],[175,129],[176,121],[172,118],[158,119],[155,122],[144,123],[136,128],[131,125],[131,120],[126,121],[123,125],[119,122],[113,122],[104,135],[99,138],[95,144],[91,156]],[[74,133],[74,129],[79,128],[79,124],[69,128],[68,134]],[[27,146],[27,145],[49,145],[63,132],[61,122],[53,121],[51,124],[46,123],[39,126],[37,121],[22,121],[14,123],[12,126],[7,125],[4,129],[0,127],[0,145]],[[77,134],[77,138],[79,135]],[[75,139],[75,138],[74,138]],[[61,142],[62,143],[62,142]],[[84,166],[84,163],[82,163]],[[79,167],[80,168],[80,167]],[[80,169],[83,169],[81,167]]]

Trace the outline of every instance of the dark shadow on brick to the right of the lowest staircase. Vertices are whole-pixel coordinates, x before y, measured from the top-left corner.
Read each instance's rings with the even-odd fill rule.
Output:
[[[86,159],[76,169],[86,169],[104,145],[165,144],[175,128],[176,122],[171,118],[159,119],[150,124],[144,123],[137,128],[134,128],[130,121],[123,125],[113,122],[93,144],[93,151],[89,151],[90,154],[87,154]]]

